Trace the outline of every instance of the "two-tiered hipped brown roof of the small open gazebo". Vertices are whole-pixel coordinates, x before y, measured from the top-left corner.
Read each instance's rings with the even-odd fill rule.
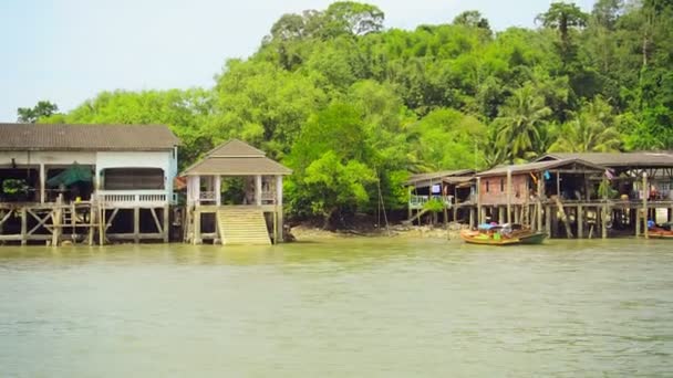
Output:
[[[245,141],[230,139],[206,154],[180,176],[290,175],[292,170],[269,159]]]

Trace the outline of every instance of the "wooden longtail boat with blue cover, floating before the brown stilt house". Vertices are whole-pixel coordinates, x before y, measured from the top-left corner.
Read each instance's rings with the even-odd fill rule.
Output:
[[[514,229],[505,225],[482,225],[478,231],[465,230],[460,238],[470,244],[482,245],[515,245],[515,244],[541,244],[547,234],[532,232],[524,229]]]

